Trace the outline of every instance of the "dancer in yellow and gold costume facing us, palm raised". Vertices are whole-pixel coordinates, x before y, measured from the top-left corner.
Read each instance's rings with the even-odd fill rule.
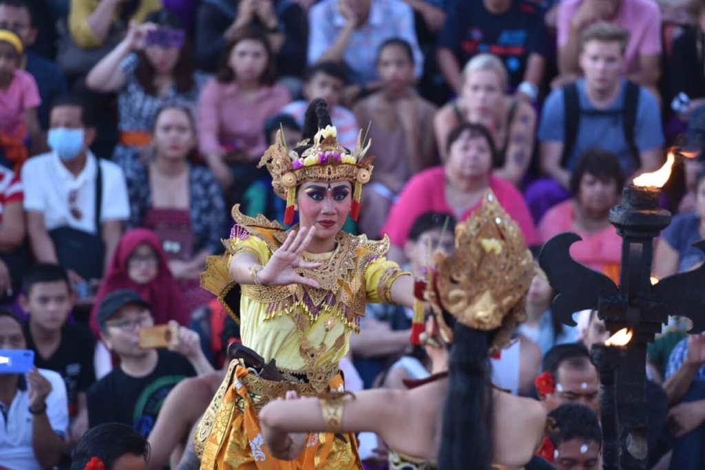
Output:
[[[235,226],[228,254],[207,262],[202,285],[224,307],[235,284],[242,287],[240,333],[233,361],[196,433],[201,469],[290,469],[263,445],[257,414],[287,390],[314,396],[343,390],[338,361],[350,335],[360,328],[367,302],[412,307],[412,278],[386,261],[387,240],[374,242],[341,230],[348,213],[357,218],[362,185],[372,159],[362,147],[345,149],[325,101],[309,105],[299,144],[281,132],[260,161],[286,199],[285,224],[298,210],[300,225],[284,230],[263,216],[233,209]],[[250,348],[249,350],[247,348]],[[234,386],[233,386],[234,385]],[[355,436],[311,435],[296,466],[303,469],[360,469]]]

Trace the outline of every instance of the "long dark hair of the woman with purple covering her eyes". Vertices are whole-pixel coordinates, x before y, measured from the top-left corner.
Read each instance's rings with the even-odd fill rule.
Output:
[[[159,27],[169,27],[173,30],[183,30],[183,23],[176,16],[176,13],[168,10],[152,11],[145,18],[145,23],[154,23]],[[193,72],[195,70],[193,51],[188,36],[185,37],[181,51],[179,52],[176,66],[172,70],[176,92],[183,94],[190,92],[195,87]],[[137,68],[135,68],[135,79],[140,84],[145,93],[152,96],[157,95],[157,88],[154,87],[154,67],[149,63],[145,51],[137,52]]]

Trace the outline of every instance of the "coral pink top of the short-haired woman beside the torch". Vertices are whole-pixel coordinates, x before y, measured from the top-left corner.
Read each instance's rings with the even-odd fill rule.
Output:
[[[605,272],[608,265],[619,266],[622,256],[622,239],[615,228],[610,225],[600,233],[578,232],[573,226],[575,211],[572,200],[561,202],[546,212],[539,223],[539,237],[545,243],[553,235],[574,232],[582,237],[570,247],[570,256],[595,271]]]

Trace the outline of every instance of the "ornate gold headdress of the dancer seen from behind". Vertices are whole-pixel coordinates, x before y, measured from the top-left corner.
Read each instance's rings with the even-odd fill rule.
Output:
[[[482,207],[455,227],[455,254],[436,254],[424,297],[436,311],[441,335],[453,342],[443,311],[468,328],[499,328],[488,354],[508,345],[526,319],[525,297],[534,278],[531,252],[517,223],[488,191]]]

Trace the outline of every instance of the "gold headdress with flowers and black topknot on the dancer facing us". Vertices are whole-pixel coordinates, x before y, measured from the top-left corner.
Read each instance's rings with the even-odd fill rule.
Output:
[[[322,116],[322,118],[321,118]],[[315,135],[307,136],[307,130],[312,128],[310,121],[317,120],[318,129]],[[323,121],[323,122],[321,122]],[[272,178],[274,192],[286,199],[284,225],[293,222],[296,187],[308,181],[331,183],[336,180],[348,180],[353,183],[353,206],[350,216],[357,221],[360,214],[360,196],[362,185],[369,181],[372,175],[372,160],[368,156],[370,142],[362,147],[362,131],[357,135],[355,150],[345,149],[336,139],[337,130],[330,123],[325,101],[314,99],[306,111],[304,125],[304,140],[296,149],[287,149],[283,142],[281,130],[276,133],[276,142],[267,149],[259,161],[257,168],[266,166]],[[313,132],[310,132],[312,134]]]

